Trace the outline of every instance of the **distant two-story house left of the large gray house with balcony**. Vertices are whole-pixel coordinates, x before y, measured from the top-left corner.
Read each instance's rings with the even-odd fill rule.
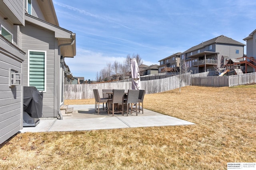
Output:
[[[172,54],[162,60],[159,60],[158,73],[179,71],[179,61],[181,52]]]

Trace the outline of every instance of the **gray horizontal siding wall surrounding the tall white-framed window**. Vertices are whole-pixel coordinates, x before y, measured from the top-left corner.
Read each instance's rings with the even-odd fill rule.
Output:
[[[30,23],[26,23],[26,27],[22,27],[21,32],[22,50],[26,52],[26,59],[23,64],[23,85],[28,86],[28,50],[46,51],[46,92],[44,92],[43,97],[42,117],[54,117],[54,52],[56,40],[54,33]]]

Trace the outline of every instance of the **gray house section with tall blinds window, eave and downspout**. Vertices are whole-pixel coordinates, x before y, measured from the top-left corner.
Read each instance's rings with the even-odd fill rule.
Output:
[[[42,117],[58,117],[64,96],[64,62],[76,55],[76,35],[59,27],[52,0],[25,0],[25,26],[20,27],[23,86],[44,92]]]

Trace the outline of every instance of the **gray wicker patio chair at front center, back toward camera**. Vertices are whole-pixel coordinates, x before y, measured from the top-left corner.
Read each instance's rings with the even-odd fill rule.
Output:
[[[108,100],[108,114],[111,112],[112,116],[114,116],[115,113],[122,113],[124,114],[124,90],[114,89],[112,99]],[[110,108],[110,104],[112,104],[112,108]],[[116,111],[115,111],[115,105],[116,104]],[[122,104],[122,111],[118,110],[118,104]]]

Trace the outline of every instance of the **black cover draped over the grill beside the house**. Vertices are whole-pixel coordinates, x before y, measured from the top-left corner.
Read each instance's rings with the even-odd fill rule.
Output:
[[[43,92],[36,87],[23,87],[23,111],[32,118],[41,118],[43,109]]]

